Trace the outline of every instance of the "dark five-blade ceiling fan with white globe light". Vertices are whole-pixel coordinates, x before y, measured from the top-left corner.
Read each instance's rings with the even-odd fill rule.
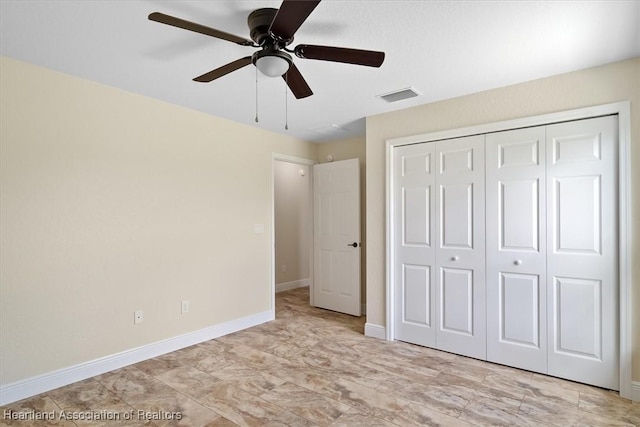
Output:
[[[320,0],[284,0],[280,9],[263,8],[254,10],[247,19],[251,40],[160,12],[153,12],[149,15],[149,19],[227,40],[240,46],[260,48],[251,56],[245,56],[230,62],[193,80],[211,82],[242,67],[253,64],[264,75],[270,77],[282,76],[293,95],[300,99],[313,95],[313,92],[293,63],[289,53],[293,53],[302,59],[342,62],[369,67],[380,67],[384,61],[384,52],[371,50],[307,44],[300,44],[294,49],[289,49],[287,46],[293,42],[295,32],[319,3]]]

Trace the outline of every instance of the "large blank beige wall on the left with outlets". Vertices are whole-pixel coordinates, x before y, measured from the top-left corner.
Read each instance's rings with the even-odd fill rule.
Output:
[[[1,384],[272,308],[271,153],[315,145],[0,61]]]

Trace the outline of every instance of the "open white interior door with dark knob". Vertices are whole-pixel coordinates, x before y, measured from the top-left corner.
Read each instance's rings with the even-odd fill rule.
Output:
[[[360,316],[358,159],[313,166],[316,307]]]

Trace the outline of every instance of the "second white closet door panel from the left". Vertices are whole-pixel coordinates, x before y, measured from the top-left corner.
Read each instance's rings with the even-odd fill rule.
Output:
[[[436,346],[484,359],[484,136],[439,141],[436,156]]]

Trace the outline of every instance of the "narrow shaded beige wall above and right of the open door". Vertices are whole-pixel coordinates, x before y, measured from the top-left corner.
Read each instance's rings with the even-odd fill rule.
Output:
[[[367,300],[367,207],[366,207],[366,141],[365,138],[347,138],[318,144],[318,163],[326,163],[327,156],[333,156],[333,161],[359,159],[360,160],[360,284],[362,302]]]

